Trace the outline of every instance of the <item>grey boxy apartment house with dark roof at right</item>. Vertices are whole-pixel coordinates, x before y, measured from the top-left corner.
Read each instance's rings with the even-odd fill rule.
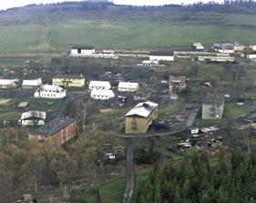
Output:
[[[202,102],[202,119],[221,119],[224,97],[224,94],[207,93]]]

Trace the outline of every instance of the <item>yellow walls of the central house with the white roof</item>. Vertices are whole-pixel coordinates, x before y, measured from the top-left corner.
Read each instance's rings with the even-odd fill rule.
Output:
[[[158,118],[158,107],[148,117],[126,117],[126,134],[146,133],[149,125]],[[133,123],[136,128],[133,128]]]

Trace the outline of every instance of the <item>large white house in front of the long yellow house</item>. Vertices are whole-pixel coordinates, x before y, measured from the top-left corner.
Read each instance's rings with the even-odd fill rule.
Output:
[[[35,98],[64,98],[66,96],[66,89],[60,86],[44,85],[36,89]]]

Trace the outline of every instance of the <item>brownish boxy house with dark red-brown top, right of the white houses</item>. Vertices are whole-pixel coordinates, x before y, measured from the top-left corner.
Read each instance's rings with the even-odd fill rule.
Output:
[[[169,93],[186,88],[186,76],[169,76]]]

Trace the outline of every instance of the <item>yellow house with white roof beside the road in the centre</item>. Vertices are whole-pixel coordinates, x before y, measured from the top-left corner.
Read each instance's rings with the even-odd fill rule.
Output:
[[[158,104],[153,102],[139,103],[126,115],[126,134],[146,133],[149,125],[158,118]]]

